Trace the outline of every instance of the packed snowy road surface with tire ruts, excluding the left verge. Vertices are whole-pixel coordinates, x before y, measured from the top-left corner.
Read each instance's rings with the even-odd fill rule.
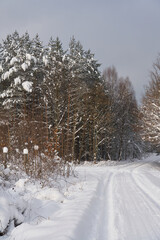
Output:
[[[148,177],[141,169],[145,164],[112,172],[104,191],[103,224],[95,239],[160,239],[160,188],[152,182],[157,178],[160,184],[160,178],[153,172]]]

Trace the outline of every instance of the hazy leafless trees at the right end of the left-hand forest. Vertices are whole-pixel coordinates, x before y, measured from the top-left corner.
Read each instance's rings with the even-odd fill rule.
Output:
[[[139,157],[141,155],[141,138],[138,135],[139,110],[131,82],[128,78],[119,78],[114,67],[105,70],[103,79],[112,113],[110,125],[112,131],[108,134],[108,156],[119,160]]]

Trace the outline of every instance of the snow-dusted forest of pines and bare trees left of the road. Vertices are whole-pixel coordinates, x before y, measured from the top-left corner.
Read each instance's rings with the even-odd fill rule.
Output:
[[[103,74],[73,37],[68,50],[36,35],[8,35],[0,46],[0,148],[34,146],[65,161],[140,157],[139,109],[129,78]]]

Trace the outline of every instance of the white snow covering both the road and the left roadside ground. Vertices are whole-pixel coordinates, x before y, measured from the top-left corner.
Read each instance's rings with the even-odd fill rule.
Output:
[[[23,221],[1,239],[159,240],[159,170],[160,157],[152,155],[85,163],[77,177],[58,179],[55,187],[22,178],[0,192],[3,229],[13,216]]]

